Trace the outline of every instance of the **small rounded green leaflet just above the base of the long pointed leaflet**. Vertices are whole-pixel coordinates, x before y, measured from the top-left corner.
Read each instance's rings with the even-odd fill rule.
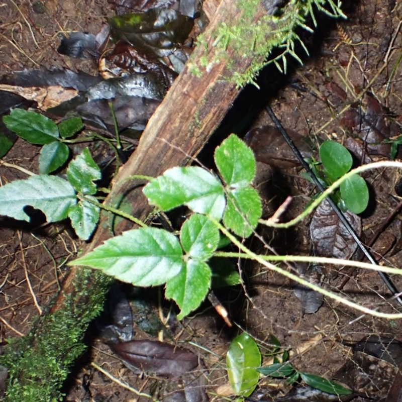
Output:
[[[205,216],[193,214],[180,231],[180,241],[188,257],[207,260],[219,243],[219,229]]]

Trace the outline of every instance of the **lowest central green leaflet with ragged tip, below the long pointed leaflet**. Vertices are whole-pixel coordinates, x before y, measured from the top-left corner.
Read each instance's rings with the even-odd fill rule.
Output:
[[[210,289],[211,269],[207,263],[189,259],[180,272],[166,282],[165,296],[180,307],[179,320],[195,310]]]

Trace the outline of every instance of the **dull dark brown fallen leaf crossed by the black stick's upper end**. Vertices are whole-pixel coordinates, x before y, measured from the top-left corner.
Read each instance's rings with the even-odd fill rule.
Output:
[[[311,157],[311,149],[303,141],[304,137],[294,131],[286,131],[303,157]],[[253,150],[258,162],[263,162],[279,169],[293,167],[299,164],[296,156],[276,127],[262,126],[253,129],[247,133],[245,141]]]

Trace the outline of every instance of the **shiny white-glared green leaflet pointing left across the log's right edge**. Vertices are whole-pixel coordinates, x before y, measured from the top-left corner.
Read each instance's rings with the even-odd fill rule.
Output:
[[[173,167],[151,180],[143,189],[149,203],[163,211],[185,205],[198,214],[220,220],[225,209],[221,182],[197,166]]]

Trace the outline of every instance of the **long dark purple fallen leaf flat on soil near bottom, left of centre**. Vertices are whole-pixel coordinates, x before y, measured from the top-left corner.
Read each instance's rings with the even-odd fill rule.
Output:
[[[111,345],[129,367],[164,377],[179,377],[198,365],[191,351],[158,341],[130,341]]]

